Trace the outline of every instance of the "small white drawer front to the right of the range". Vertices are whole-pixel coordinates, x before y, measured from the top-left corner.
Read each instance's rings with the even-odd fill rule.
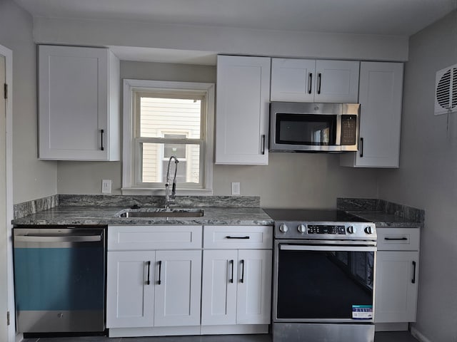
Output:
[[[418,251],[419,228],[377,228],[378,251]]]

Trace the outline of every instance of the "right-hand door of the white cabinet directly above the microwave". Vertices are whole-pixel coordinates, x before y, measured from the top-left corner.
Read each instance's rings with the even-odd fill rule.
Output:
[[[358,61],[316,61],[315,102],[357,103]]]

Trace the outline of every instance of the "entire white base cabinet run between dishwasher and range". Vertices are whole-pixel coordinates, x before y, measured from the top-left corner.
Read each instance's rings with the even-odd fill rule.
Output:
[[[109,226],[109,336],[268,333],[271,262],[269,226]]]

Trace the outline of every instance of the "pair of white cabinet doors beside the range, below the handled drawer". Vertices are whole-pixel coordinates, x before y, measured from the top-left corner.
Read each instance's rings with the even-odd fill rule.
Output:
[[[271,250],[205,250],[201,325],[269,324]]]

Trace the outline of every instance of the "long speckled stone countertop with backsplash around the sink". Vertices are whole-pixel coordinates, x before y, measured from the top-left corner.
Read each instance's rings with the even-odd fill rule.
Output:
[[[194,199],[194,200],[193,200]],[[176,197],[171,207],[204,210],[203,217],[118,217],[132,206],[162,207],[161,198],[125,196],[60,195],[59,205],[15,217],[14,225],[79,225],[79,224],[233,224],[272,225],[273,220],[259,207],[258,197]],[[24,207],[27,207],[24,205]],[[19,212],[15,210],[15,212]]]

